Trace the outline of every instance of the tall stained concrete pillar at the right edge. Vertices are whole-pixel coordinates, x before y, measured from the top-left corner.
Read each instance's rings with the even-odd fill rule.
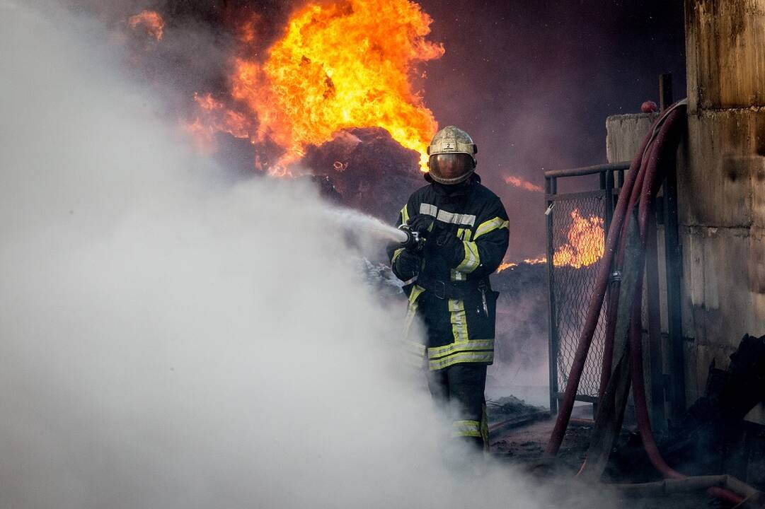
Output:
[[[745,332],[765,334],[765,0],[686,0],[679,169],[686,400]]]

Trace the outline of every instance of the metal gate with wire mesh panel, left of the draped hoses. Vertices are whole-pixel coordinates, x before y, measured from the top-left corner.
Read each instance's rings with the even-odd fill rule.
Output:
[[[587,315],[597,271],[614,212],[614,172],[623,182],[629,163],[601,164],[545,173],[547,267],[549,282],[550,411],[556,413],[562,389]],[[599,175],[600,188],[558,193],[558,180],[581,184],[581,177]],[[592,177],[589,177],[590,179]],[[575,181],[577,180],[577,181]],[[601,313],[605,313],[605,302]],[[598,322],[576,399],[597,402],[605,320]]]

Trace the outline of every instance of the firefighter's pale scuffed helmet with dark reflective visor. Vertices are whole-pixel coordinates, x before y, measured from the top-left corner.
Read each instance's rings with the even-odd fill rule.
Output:
[[[428,177],[442,184],[464,182],[475,170],[477,152],[467,132],[447,125],[435,134],[428,147]]]

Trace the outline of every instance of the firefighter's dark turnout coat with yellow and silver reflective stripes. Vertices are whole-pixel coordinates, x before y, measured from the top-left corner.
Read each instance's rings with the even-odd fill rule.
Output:
[[[427,329],[418,353],[431,370],[461,363],[489,365],[494,358],[496,297],[489,275],[507,251],[507,212],[499,197],[473,175],[457,186],[431,183],[412,193],[397,225],[430,216],[434,228],[454,235],[448,252],[426,251],[418,274],[409,280],[399,266],[401,248],[389,249],[393,272],[406,280],[409,311],[405,329],[420,316]],[[428,241],[431,242],[431,238]]]

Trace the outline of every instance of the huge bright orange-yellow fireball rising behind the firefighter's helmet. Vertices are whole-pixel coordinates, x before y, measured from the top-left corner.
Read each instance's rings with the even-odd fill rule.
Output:
[[[291,15],[265,63],[250,56],[252,30],[239,28],[243,56],[229,76],[237,111],[205,110],[207,99],[197,96],[200,117],[192,124],[200,125],[192,130],[271,141],[284,150],[272,173],[288,173],[308,146],[344,128],[380,127],[417,151],[426,171],[438,123],[410,78],[417,63],[444,54],[441,44],[425,40],[431,22],[409,0],[311,2]]]

